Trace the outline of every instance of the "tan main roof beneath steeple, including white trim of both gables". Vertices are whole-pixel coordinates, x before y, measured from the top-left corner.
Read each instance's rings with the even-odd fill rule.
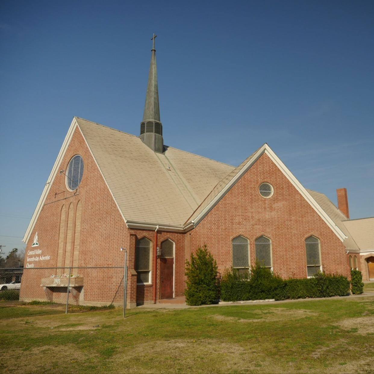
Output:
[[[128,227],[154,229],[158,225],[163,230],[187,230],[196,226],[258,157],[266,153],[340,240],[345,238],[338,223],[340,220],[335,223],[329,217],[267,144],[234,168],[173,147],[166,146],[164,153],[156,153],[135,135],[74,117],[26,230],[24,242],[30,238],[77,127]]]

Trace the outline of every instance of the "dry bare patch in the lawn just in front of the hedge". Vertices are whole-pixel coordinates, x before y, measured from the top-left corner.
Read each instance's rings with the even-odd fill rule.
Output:
[[[237,318],[224,316],[221,314],[212,315],[219,321],[233,322],[264,322],[264,321],[281,321],[284,318],[300,319],[310,316],[318,316],[319,313],[305,309],[285,309],[285,308],[267,308],[266,310],[248,310],[245,311],[255,315],[256,318]]]

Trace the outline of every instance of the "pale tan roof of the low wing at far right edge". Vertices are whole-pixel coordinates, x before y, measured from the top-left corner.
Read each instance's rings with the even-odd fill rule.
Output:
[[[374,217],[343,221],[361,251],[374,250]]]

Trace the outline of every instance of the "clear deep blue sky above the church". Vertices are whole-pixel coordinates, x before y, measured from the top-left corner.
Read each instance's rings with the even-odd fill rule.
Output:
[[[153,33],[165,144],[238,165],[267,142],[374,216],[373,19],[373,1],[1,1],[4,252],[73,116],[139,134]]]

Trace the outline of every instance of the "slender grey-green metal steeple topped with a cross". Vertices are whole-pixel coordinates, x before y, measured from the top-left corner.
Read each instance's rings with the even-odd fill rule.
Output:
[[[163,152],[162,123],[160,122],[159,89],[157,85],[156,49],[153,34],[151,66],[149,68],[147,95],[145,96],[143,121],[140,124],[140,138],[155,152]]]

